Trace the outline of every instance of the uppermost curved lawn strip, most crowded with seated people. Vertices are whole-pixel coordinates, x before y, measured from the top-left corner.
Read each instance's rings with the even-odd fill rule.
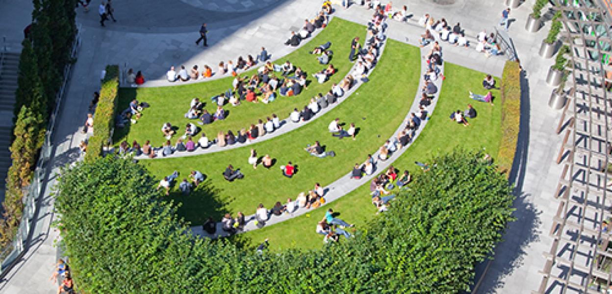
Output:
[[[350,21],[334,18],[326,29],[321,31],[306,45],[294,51],[287,56],[280,57],[277,64],[282,64],[286,60],[291,61],[296,67],[308,73],[310,85],[307,89],[302,90],[300,95],[294,97],[282,97],[277,95],[277,99],[269,104],[264,103],[248,103],[243,101],[241,105],[233,107],[226,105],[224,108],[228,110],[229,116],[225,120],[217,121],[209,125],[200,126],[202,131],[209,138],[214,138],[219,131],[237,130],[247,128],[251,123],[256,123],[258,119],[266,120],[267,116],[277,114],[280,119],[285,119],[289,116],[289,112],[293,108],[303,108],[310,101],[310,98],[319,92],[325,94],[331,89],[333,83],[338,83],[343,79],[353,66],[348,61],[351,40],[356,37],[363,37],[365,34],[365,26],[352,23]],[[362,38],[363,39],[363,38]],[[318,72],[327,65],[320,65],[315,55],[309,54],[315,46],[321,45],[327,41],[332,42],[330,50],[334,51],[330,63],[337,68],[338,72],[331,76],[329,81],[324,84],[319,84],[316,79],[312,78],[312,73]],[[246,57],[246,56],[244,56]],[[217,65],[211,65],[216,70]],[[247,73],[242,73],[241,76],[251,76],[255,70],[250,70]],[[280,75],[277,76],[280,77]],[[140,87],[140,88],[121,88],[119,90],[119,106],[118,111],[128,107],[130,101],[136,98],[138,101],[146,101],[151,105],[143,112],[143,117],[138,120],[138,123],[130,125],[124,129],[116,129],[113,141],[118,144],[122,140],[132,142],[136,140],[141,144],[146,140],[151,140],[153,145],[162,145],[166,141],[161,133],[162,124],[170,122],[180,128],[179,132],[184,131],[187,122],[195,122],[195,120],[185,119],[184,114],[189,109],[189,103],[194,97],[200,98],[200,101],[206,102],[206,109],[214,113],[217,106],[211,102],[211,97],[221,94],[232,87],[233,77],[217,79],[206,83],[187,84],[171,87]],[[177,82],[180,85],[180,82]],[[280,86],[280,85],[279,85]],[[177,137],[177,136],[175,136]],[[173,139],[173,143],[176,138]]]

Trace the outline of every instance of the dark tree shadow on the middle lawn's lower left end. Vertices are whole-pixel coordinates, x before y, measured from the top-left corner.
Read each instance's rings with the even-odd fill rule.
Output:
[[[177,183],[180,183],[183,178],[183,175],[177,178]],[[222,199],[219,197],[222,191],[207,179],[188,195],[173,189],[170,195],[163,199],[173,201],[178,206],[177,215],[182,216],[190,226],[201,226],[209,216],[220,220],[225,213],[230,212],[226,210],[226,207],[234,198],[223,197]]]

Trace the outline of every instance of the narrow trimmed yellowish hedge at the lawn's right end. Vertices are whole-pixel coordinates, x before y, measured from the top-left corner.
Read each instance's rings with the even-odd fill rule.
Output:
[[[521,123],[521,69],[518,62],[507,61],[501,79],[501,129],[497,164],[510,171],[517,152]]]

